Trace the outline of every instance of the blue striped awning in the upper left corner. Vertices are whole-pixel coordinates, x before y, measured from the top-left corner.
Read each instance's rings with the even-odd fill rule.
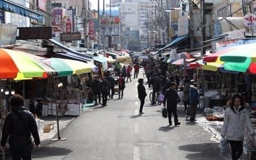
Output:
[[[37,13],[33,10],[29,10],[29,8],[21,6],[20,4],[17,3],[13,3],[12,1],[0,0],[0,10],[23,15],[25,17],[29,17],[29,19],[35,19],[40,22],[43,21],[43,15],[41,15],[40,13]]]

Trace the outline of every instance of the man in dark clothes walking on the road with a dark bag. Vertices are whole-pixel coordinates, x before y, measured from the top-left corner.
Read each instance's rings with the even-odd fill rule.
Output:
[[[176,90],[177,83],[170,83],[170,89],[166,90],[164,93],[164,102],[163,106],[165,107],[167,101],[167,111],[168,111],[168,120],[169,125],[172,125],[172,114],[174,116],[174,125],[180,125],[177,115],[177,102],[179,99],[178,92]]]

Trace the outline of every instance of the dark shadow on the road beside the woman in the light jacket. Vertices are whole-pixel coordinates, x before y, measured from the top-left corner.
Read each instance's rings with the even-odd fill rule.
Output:
[[[221,159],[220,147],[218,143],[198,143],[179,146],[180,150],[195,152],[187,154],[186,159]]]

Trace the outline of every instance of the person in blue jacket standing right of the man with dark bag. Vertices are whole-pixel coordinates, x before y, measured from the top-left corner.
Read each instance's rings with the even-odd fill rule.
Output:
[[[189,88],[189,104],[191,107],[191,116],[189,120],[195,120],[196,118],[196,109],[197,105],[199,104],[199,90],[198,84],[194,83]]]

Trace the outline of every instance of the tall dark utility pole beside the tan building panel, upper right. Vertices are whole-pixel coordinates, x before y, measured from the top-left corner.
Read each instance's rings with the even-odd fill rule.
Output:
[[[202,32],[201,32],[201,42],[202,43],[202,48],[201,48],[201,55],[205,54],[205,0],[201,0],[201,4],[200,4],[200,12],[201,12],[201,25],[202,26]]]

